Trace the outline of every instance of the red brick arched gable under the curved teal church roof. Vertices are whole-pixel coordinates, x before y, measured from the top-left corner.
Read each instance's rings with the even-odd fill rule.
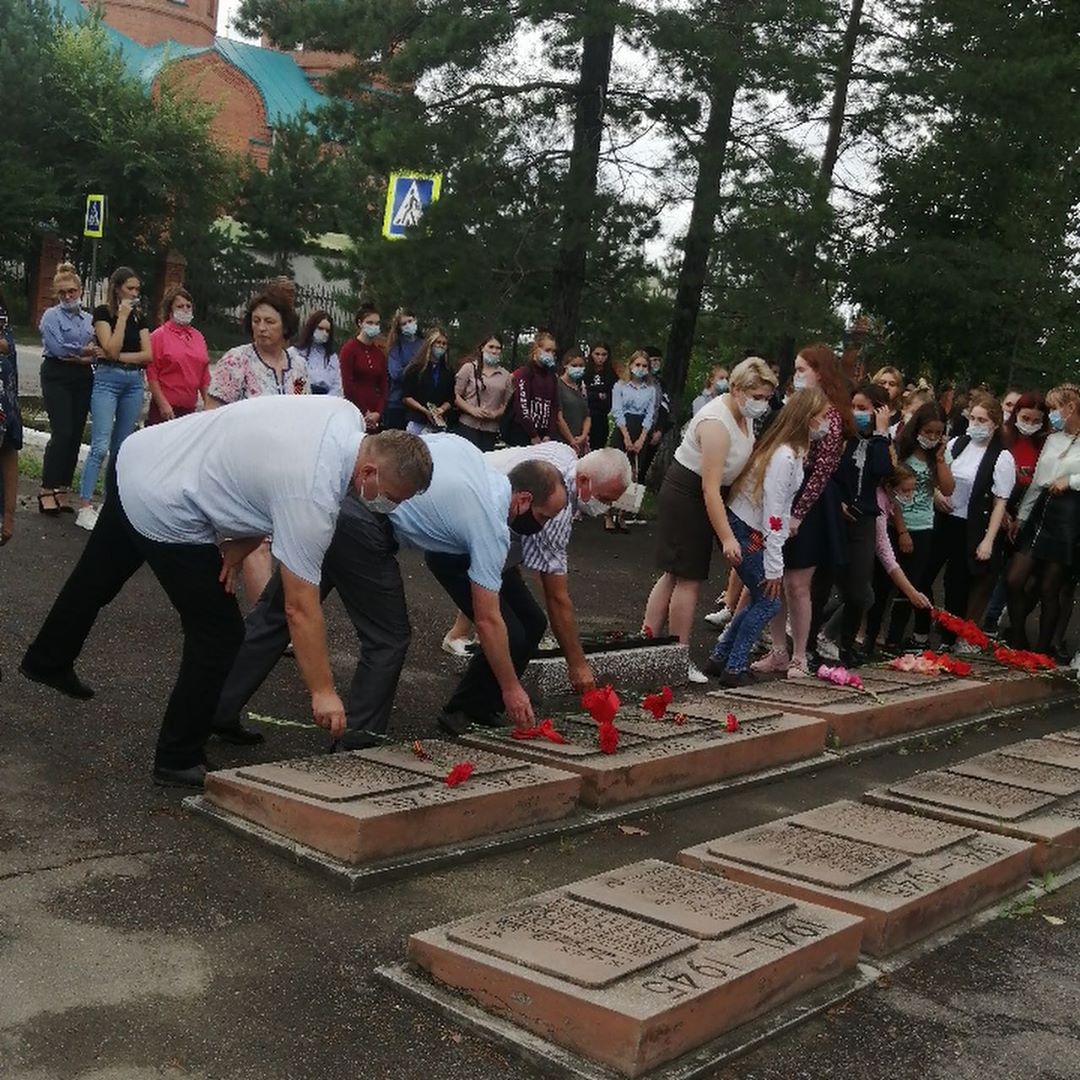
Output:
[[[174,90],[219,110],[213,124],[219,146],[252,158],[259,168],[267,167],[271,135],[262,97],[231,64],[217,53],[205,53],[171,64],[162,78]]]

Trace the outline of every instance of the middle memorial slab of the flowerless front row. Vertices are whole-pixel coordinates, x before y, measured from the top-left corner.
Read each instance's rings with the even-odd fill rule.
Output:
[[[1023,840],[860,802],[831,802],[679,852],[686,866],[865,919],[885,956],[1018,889]]]

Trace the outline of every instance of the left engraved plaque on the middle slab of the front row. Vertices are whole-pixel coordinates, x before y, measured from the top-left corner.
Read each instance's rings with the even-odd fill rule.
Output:
[[[837,889],[852,889],[909,862],[895,851],[785,822],[720,837],[708,850],[721,859]]]

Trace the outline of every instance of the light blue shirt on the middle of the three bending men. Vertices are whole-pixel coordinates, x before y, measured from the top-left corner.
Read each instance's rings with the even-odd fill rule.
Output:
[[[510,481],[459,435],[421,435],[434,471],[422,495],[387,516],[400,543],[469,556],[469,580],[498,592],[510,552]]]

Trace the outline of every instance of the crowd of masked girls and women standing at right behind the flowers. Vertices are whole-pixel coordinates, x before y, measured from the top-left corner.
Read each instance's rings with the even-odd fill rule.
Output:
[[[649,633],[689,643],[714,544],[723,630],[691,680],[807,678],[926,650],[942,609],[1069,661],[1080,567],[1080,388],[936,393],[882,367],[852,384],[833,350],[716,366],[660,489]],[[1028,622],[1039,609],[1038,631]],[[882,638],[881,629],[885,626]],[[944,630],[941,646],[969,652]],[[752,659],[754,650],[764,650]]]

